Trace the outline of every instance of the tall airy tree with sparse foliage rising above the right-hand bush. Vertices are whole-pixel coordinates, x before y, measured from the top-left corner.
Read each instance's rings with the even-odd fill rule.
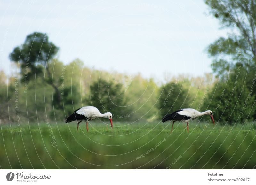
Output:
[[[236,63],[255,71],[255,0],[205,0],[205,3],[210,13],[220,20],[222,28],[233,30],[227,38],[220,37],[208,47],[213,57],[213,71],[225,76]]]

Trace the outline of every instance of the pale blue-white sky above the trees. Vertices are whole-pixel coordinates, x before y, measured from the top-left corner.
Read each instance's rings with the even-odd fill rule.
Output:
[[[0,0],[0,70],[28,34],[47,33],[57,58],[111,73],[167,79],[211,73],[206,47],[226,30],[196,1]],[[168,81],[168,80],[167,80]]]

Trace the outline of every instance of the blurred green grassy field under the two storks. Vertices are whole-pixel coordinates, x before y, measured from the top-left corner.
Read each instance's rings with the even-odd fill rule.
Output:
[[[252,169],[255,125],[82,122],[1,125],[1,169]]]

